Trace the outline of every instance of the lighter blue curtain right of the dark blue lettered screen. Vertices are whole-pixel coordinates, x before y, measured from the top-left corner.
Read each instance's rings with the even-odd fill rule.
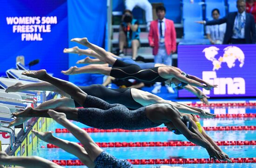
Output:
[[[104,46],[105,26],[107,22],[107,0],[67,0],[68,6],[68,40],[74,37],[88,37],[88,40],[96,45]],[[68,43],[68,47],[78,46],[86,49],[85,46],[74,42]],[[69,66],[74,66],[75,62],[85,58],[69,54]],[[77,65],[81,67],[83,65]],[[102,75],[71,75],[69,81],[77,85],[89,85],[91,82],[101,83],[98,77]]]

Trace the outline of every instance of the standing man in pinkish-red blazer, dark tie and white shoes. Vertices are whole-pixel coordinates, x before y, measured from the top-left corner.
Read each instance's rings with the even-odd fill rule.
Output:
[[[150,47],[153,48],[153,55],[155,56],[155,63],[163,63],[165,65],[172,65],[172,55],[176,51],[176,31],[174,22],[165,18],[166,9],[164,6],[157,6],[156,9],[157,20],[150,24],[148,33],[148,41]],[[155,83],[155,88],[152,93],[160,93],[161,83]],[[174,90],[167,86],[169,93],[174,93]]]

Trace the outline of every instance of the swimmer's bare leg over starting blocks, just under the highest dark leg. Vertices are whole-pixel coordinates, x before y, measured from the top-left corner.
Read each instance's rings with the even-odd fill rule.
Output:
[[[40,91],[52,91],[59,94],[62,94],[66,97],[70,97],[67,93],[61,91],[54,85],[48,82],[37,82],[37,83],[30,83],[30,84],[22,84],[21,82],[16,83],[13,86],[7,87],[5,90],[6,93],[9,92],[22,92],[27,90],[40,90]]]

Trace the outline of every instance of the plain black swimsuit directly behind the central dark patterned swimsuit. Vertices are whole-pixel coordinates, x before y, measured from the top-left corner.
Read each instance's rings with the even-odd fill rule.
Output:
[[[100,84],[80,88],[88,95],[105,100],[110,104],[118,103],[131,109],[138,109],[143,107],[133,99],[131,88],[110,89]],[[79,105],[76,101],[74,101],[74,103],[75,107],[81,107],[81,105]]]

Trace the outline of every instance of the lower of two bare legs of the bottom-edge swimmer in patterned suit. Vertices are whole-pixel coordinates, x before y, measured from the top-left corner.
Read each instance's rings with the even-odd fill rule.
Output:
[[[63,114],[63,113],[59,113]],[[59,148],[67,151],[68,153],[73,154],[74,156],[77,156],[82,163],[84,163],[88,167],[93,167],[94,163],[91,161],[91,159],[88,157],[88,153],[86,150],[81,147],[78,143],[70,142],[61,138],[54,137],[52,135],[52,132],[47,131],[47,132],[38,132],[33,130],[34,134],[40,138],[41,140],[47,142],[47,143],[52,143]]]

